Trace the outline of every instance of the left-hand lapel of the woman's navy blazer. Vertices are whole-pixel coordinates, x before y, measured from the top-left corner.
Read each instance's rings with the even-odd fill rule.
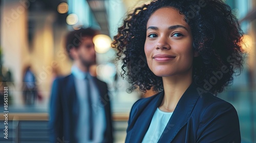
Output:
[[[156,97],[150,101],[150,103],[146,104],[146,107],[141,108],[144,110],[139,111],[141,114],[139,114],[139,117],[134,125],[135,128],[132,131],[132,138],[130,142],[142,142],[148,127],[150,127],[152,117],[157,107],[160,106],[162,102],[163,95],[163,91],[158,93]]]

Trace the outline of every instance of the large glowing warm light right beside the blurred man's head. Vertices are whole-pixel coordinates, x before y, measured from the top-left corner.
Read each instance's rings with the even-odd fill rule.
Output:
[[[97,53],[106,53],[110,50],[112,40],[108,35],[99,34],[93,38],[95,51]]]

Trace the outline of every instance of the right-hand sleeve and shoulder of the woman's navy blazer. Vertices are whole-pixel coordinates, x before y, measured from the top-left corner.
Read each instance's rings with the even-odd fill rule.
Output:
[[[239,117],[232,104],[212,94],[203,96],[200,104],[198,142],[241,142]]]

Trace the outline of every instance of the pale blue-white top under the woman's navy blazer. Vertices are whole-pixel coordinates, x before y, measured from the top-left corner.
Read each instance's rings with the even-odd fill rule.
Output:
[[[164,112],[157,108],[142,143],[158,142],[172,114],[173,112]]]

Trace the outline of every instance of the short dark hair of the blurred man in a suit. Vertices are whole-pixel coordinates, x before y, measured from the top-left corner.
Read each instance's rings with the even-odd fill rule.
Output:
[[[69,54],[69,57],[73,59],[70,55],[70,50],[72,48],[77,48],[81,44],[81,38],[82,37],[94,37],[97,34],[97,32],[92,28],[86,28],[86,29],[79,29],[71,31],[66,36],[66,43],[65,48],[67,53]]]

